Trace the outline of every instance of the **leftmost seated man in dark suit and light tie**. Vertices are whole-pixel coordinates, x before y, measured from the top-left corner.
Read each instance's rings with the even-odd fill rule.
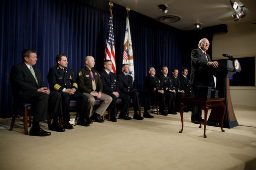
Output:
[[[13,96],[17,101],[31,103],[33,115],[32,127],[29,130],[30,136],[49,136],[51,132],[46,132],[40,128],[39,122],[47,120],[47,109],[54,115],[61,115],[61,95],[57,91],[50,91],[42,80],[38,69],[32,67],[37,62],[37,55],[34,50],[26,49],[22,51],[23,62],[11,68],[11,85]],[[53,124],[58,126],[58,117],[53,117]],[[59,127],[58,132],[65,129]]]

